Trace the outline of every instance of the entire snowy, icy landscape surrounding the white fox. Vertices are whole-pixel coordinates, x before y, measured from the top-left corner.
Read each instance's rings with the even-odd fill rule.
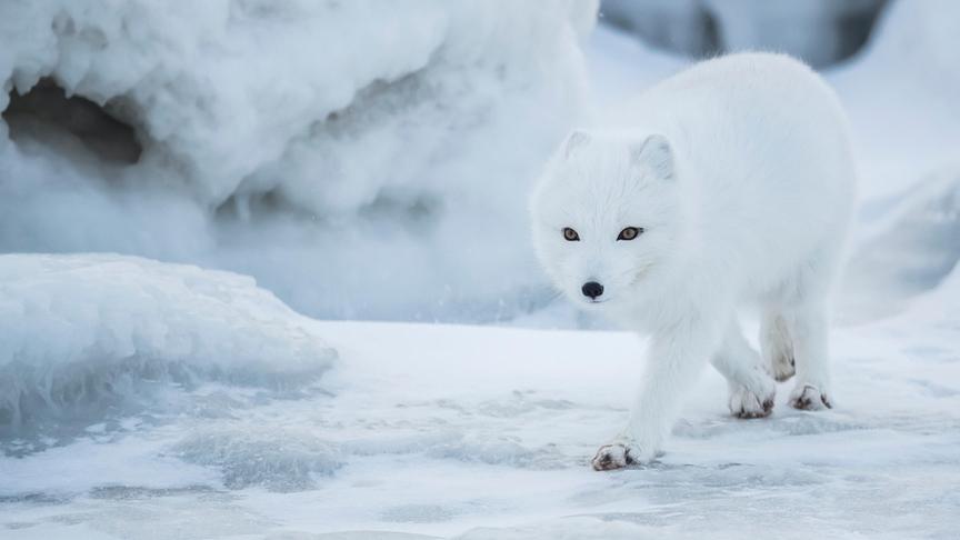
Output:
[[[838,407],[738,421],[704,372],[596,473],[642,341],[556,298],[530,183],[744,48],[854,128]],[[0,538],[960,530],[952,0],[8,0],[0,81]]]

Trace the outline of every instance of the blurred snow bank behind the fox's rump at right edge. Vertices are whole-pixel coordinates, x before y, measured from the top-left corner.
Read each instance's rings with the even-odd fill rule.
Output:
[[[827,72],[860,156],[844,318],[902,310],[960,260],[960,4],[893,2],[856,61]]]

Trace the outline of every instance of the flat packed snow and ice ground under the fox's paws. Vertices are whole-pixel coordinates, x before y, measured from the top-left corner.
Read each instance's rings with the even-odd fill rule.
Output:
[[[790,409],[784,384],[771,418],[737,420],[710,371],[668,453],[612,473],[588,459],[628,412],[644,361],[636,336],[317,322],[341,359],[311,397],[132,416],[2,459],[0,528],[10,539],[950,538],[956,278],[897,319],[834,331],[833,410]]]

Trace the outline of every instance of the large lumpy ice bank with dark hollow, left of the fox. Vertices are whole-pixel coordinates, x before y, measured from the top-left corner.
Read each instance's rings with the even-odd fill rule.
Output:
[[[527,187],[579,114],[596,9],[3,2],[0,250],[239,270],[327,317],[523,309]]]

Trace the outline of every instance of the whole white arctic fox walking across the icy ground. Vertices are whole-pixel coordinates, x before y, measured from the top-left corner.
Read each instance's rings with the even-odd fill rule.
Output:
[[[572,132],[531,200],[533,241],[573,303],[649,332],[640,392],[597,470],[661,453],[682,392],[708,359],[730,411],[829,408],[828,296],[854,200],[836,94],[786,56],[701,62],[601,129]],[[737,311],[759,306],[760,353]],[[598,359],[602,361],[602,359]]]

